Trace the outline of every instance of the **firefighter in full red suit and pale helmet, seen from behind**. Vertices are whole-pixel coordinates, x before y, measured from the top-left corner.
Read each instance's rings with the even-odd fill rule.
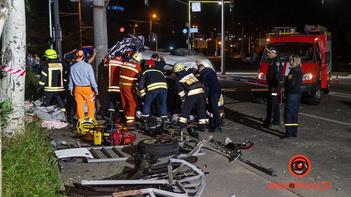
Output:
[[[119,89],[123,113],[126,116],[127,126],[131,127],[135,127],[134,116],[138,103],[135,83],[138,80],[139,72],[141,72],[140,62],[142,59],[143,55],[141,53],[135,53],[132,55],[132,59],[123,63],[120,72]]]

